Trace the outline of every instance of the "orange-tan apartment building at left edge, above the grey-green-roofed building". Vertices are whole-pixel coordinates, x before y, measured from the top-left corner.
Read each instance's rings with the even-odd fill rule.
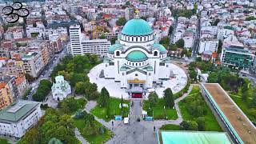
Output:
[[[14,76],[4,76],[0,79],[0,110],[9,106],[18,97]]]

